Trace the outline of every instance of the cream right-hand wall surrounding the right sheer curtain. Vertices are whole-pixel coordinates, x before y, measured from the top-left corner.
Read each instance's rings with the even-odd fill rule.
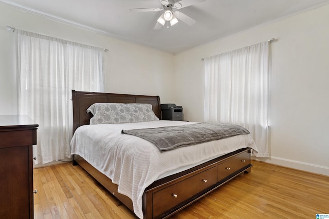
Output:
[[[200,58],[276,38],[271,45],[270,158],[329,175],[329,5],[285,17],[175,55],[176,103],[203,121]]]

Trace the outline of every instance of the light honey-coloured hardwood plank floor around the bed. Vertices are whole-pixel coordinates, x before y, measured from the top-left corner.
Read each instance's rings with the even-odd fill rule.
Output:
[[[253,161],[251,172],[171,218],[315,218],[329,214],[329,177]],[[34,218],[137,218],[80,166],[33,170]]]

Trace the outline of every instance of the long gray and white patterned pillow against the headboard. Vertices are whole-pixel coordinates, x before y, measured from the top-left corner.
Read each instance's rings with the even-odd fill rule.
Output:
[[[94,117],[90,124],[138,123],[158,121],[151,104],[95,103],[87,109]]]

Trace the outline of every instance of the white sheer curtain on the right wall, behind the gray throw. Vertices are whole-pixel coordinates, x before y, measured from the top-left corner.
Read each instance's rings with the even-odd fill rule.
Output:
[[[205,121],[248,129],[268,157],[269,43],[205,58]]]

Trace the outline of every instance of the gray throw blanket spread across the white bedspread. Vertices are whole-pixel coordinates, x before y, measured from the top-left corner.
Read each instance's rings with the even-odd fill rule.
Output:
[[[153,143],[160,152],[220,140],[239,134],[250,134],[247,129],[241,126],[223,123],[197,123],[150,129],[132,129],[122,130],[121,133],[141,137]]]

